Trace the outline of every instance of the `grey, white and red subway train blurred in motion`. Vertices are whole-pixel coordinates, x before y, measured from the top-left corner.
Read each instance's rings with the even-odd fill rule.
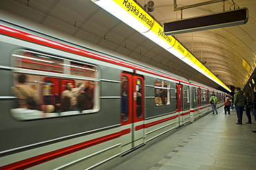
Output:
[[[109,169],[225,93],[0,12],[0,169]]]

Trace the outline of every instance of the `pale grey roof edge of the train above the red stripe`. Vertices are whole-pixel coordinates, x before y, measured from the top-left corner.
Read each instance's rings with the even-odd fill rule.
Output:
[[[125,56],[123,54],[118,54],[117,52],[113,52],[111,50],[107,50],[104,47],[100,47],[98,45],[82,41],[81,39],[77,39],[74,36],[64,34],[62,32],[58,32],[56,30],[53,30],[51,28],[46,28],[44,25],[40,25],[39,23],[35,23],[33,21],[28,21],[27,19],[21,18],[19,16],[16,16],[15,14],[10,14],[9,12],[0,10],[1,19],[0,21],[4,21],[6,23],[10,23],[12,25],[16,25],[19,28],[30,30],[32,32],[37,32],[37,34],[42,34],[46,36],[46,38],[50,38],[51,40],[57,40],[62,41],[62,43],[68,43],[69,45],[76,45],[80,48],[83,48],[85,50],[88,50],[90,52],[93,52],[95,54],[100,54],[107,56],[112,59],[118,59],[121,61],[125,61],[127,63],[131,63],[134,65],[137,65],[139,67],[144,67],[148,70],[153,70],[154,72],[159,72],[161,74],[166,74],[168,76],[172,76],[174,78],[179,78],[182,81],[186,81],[189,83],[187,78],[184,78],[182,76],[178,76],[176,74],[172,74],[170,72],[167,72],[166,70],[162,70],[161,68],[149,65],[147,63],[143,63],[141,61],[137,61],[135,59],[131,59],[129,56]]]

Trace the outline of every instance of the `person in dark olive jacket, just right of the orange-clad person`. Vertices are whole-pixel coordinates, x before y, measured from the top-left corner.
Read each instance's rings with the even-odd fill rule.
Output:
[[[237,87],[237,92],[234,95],[234,105],[237,109],[237,125],[242,125],[243,111],[244,111],[244,93],[239,87]]]

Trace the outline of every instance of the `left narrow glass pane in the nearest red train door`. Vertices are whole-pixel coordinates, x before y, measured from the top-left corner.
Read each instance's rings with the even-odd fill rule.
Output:
[[[127,76],[121,78],[121,120],[129,119],[129,79]]]

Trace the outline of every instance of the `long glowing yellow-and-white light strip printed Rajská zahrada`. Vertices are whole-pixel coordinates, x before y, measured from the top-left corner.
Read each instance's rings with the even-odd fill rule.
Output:
[[[214,76],[200,61],[188,52],[179,41],[173,36],[163,33],[163,27],[155,21],[141,6],[134,0],[91,0],[110,14],[113,14],[120,21],[126,23],[134,30],[140,32],[154,43],[160,45],[165,50],[187,63],[201,74],[221,85],[229,92],[231,90],[224,85],[219,78]]]

